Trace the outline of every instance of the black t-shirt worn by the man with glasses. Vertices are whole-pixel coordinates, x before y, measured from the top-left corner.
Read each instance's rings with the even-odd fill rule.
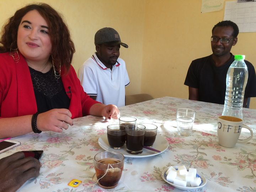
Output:
[[[234,61],[234,55],[220,67],[216,67],[212,55],[193,60],[188,68],[184,84],[198,89],[199,101],[224,104],[226,74]],[[245,60],[248,80],[244,97],[256,97],[256,74],[254,66]]]

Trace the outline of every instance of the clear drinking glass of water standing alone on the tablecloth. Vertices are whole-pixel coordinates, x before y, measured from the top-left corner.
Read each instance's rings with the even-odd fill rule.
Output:
[[[196,111],[191,109],[177,109],[177,129],[178,134],[184,137],[190,136],[194,125]]]

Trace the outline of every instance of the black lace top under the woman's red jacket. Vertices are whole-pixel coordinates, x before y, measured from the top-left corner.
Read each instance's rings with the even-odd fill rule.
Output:
[[[61,78],[55,78],[53,68],[47,73],[29,67],[36,97],[37,111],[43,113],[54,108],[69,108],[70,99],[66,95]]]

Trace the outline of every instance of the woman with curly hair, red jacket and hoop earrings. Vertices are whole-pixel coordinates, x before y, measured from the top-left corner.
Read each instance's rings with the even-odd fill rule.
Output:
[[[0,39],[0,138],[52,130],[73,118],[117,118],[114,105],[92,100],[71,61],[75,52],[68,27],[47,4],[17,10]]]

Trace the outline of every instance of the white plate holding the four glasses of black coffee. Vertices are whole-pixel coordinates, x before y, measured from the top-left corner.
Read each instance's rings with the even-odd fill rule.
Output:
[[[143,148],[143,151],[141,154],[133,155],[126,151],[126,144],[124,144],[123,148],[121,149],[113,149],[108,144],[107,133],[101,135],[101,137],[98,139],[98,144],[105,151],[118,151],[119,153],[122,153],[125,157],[129,157],[129,158],[145,158],[145,157],[150,157],[150,156],[160,154],[158,152]],[[168,148],[168,146],[169,144],[165,138],[163,138],[161,135],[156,135],[156,140],[152,148],[157,149],[162,153]]]

